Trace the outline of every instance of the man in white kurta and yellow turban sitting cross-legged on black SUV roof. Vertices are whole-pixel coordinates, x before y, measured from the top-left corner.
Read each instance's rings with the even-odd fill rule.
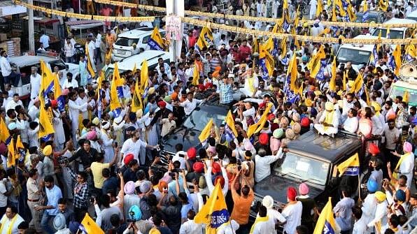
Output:
[[[314,128],[322,135],[334,136],[339,128],[339,115],[334,111],[334,105],[330,101],[325,104],[325,112],[318,120],[318,124],[314,124]]]

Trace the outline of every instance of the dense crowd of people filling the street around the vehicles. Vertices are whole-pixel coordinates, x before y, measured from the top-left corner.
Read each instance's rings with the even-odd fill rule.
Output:
[[[323,34],[320,21],[330,19],[326,4],[316,17],[317,1],[311,2],[309,17],[316,22],[297,25],[299,35]],[[364,4],[369,10],[378,6],[374,1],[362,3],[358,10]],[[262,0],[239,1],[234,6],[240,8],[229,5],[228,10],[277,17],[278,5],[278,1],[267,1],[266,6]],[[213,8],[209,5],[208,11],[215,12]],[[415,10],[412,1],[404,1],[386,15],[404,17],[410,10]],[[291,3],[288,13],[291,18],[296,15]],[[272,30],[262,22],[228,23]],[[411,191],[417,182],[416,106],[409,106],[410,94],[389,96],[398,80],[396,67],[390,64],[390,46],[381,45],[378,58],[357,70],[350,62],[339,64],[334,59],[339,45],[274,43],[269,72],[260,57],[260,46],[268,38],[213,29],[207,46],[199,47],[202,29],[194,27],[185,36],[186,52],[176,61],[160,58],[147,77],[140,70],[120,74],[118,92],[123,98],[116,111],[111,109],[112,77],[98,78],[113,62],[111,47],[120,32],[106,26],[105,35],[88,36],[90,53],[80,57],[80,75],[63,77],[52,68],[64,101],[56,96],[56,88],[43,98],[44,71],[34,66],[30,100],[22,102],[13,92],[20,76],[6,51],[1,52],[0,234],[80,233],[85,214],[94,217],[105,233],[205,233],[208,224],[199,224],[195,217],[219,184],[229,221],[217,233],[276,233],[278,226],[287,234],[313,233],[325,204],[309,196],[309,182],[286,188],[288,203],[278,207],[274,198],[264,196],[257,217],[250,219],[254,185],[271,175],[271,165],[285,158],[288,144],[308,131],[330,138],[340,131],[356,134],[369,163],[365,166],[369,179],[359,185],[367,192],[364,197],[359,198],[358,187],[350,184],[341,184],[334,194],[335,233],[416,232],[417,193]],[[337,36],[350,37],[348,29],[337,31]],[[48,38],[41,41],[43,47],[48,44]],[[75,56],[73,45],[69,36],[64,41],[68,62]],[[402,47],[402,54],[406,50]],[[132,54],[137,53],[134,47]],[[311,75],[315,70],[311,61],[320,53],[327,64],[323,78],[317,72]],[[104,62],[102,68],[96,67],[99,60]],[[88,61],[97,78],[89,77]],[[134,110],[135,85],[143,80],[148,84],[143,106]],[[222,124],[208,126],[202,146],[175,145],[176,154],[167,160],[165,171],[162,138],[182,126],[204,101],[232,110],[234,126],[225,117]],[[45,130],[42,111],[48,112],[55,133],[39,138]],[[15,161],[10,161],[12,152]]]

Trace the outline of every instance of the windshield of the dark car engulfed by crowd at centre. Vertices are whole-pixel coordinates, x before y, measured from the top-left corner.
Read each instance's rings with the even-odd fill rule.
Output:
[[[191,112],[183,125],[188,129],[202,131],[211,118],[213,118],[215,126],[220,126],[225,121],[225,114],[226,112],[224,114],[213,113],[209,108],[199,108],[199,110]]]

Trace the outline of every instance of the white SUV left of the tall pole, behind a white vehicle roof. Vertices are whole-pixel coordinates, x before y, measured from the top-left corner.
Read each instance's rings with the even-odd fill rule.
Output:
[[[114,60],[120,61],[132,56],[133,43],[136,43],[136,47],[139,47],[141,52],[148,50],[148,40],[152,31],[153,28],[143,27],[119,34],[118,40],[113,45]],[[165,30],[160,29],[160,34],[162,37],[165,36]]]

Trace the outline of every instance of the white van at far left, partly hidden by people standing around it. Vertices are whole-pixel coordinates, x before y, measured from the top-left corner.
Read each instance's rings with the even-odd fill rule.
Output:
[[[66,73],[71,72],[75,78],[79,73],[78,64],[65,63],[64,60],[59,57],[48,57],[40,55],[10,57],[10,64],[12,64],[12,67],[16,69],[16,73],[20,73],[21,77],[19,85],[13,88],[13,93],[19,94],[19,98],[21,100],[30,98],[31,67],[36,66],[38,68],[38,73],[41,74],[41,60],[45,61],[51,71],[53,71],[53,68],[57,66],[59,71],[64,73],[64,77],[66,77]]]

